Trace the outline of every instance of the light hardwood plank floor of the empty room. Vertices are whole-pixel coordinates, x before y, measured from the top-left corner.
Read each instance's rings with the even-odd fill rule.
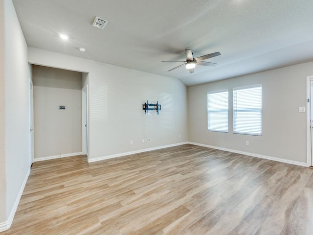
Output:
[[[36,162],[1,235],[313,235],[313,170],[182,145]]]

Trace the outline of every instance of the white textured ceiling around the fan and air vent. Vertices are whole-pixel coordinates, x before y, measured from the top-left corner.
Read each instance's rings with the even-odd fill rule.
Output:
[[[180,79],[187,86],[313,61],[313,0],[13,0],[30,47]],[[95,16],[109,21],[101,30]],[[59,33],[69,36],[62,41]],[[85,47],[85,53],[79,51]],[[185,60],[220,51],[196,66]]]

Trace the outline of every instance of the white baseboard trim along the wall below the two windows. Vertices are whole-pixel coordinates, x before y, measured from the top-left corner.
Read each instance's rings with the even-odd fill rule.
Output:
[[[262,154],[249,153],[249,152],[239,151],[239,150],[235,150],[235,149],[217,147],[217,146],[212,146],[212,145],[207,145],[207,144],[202,144],[202,143],[195,143],[195,142],[188,142],[188,143],[193,144],[193,145],[202,146],[202,147],[214,148],[214,149],[218,149],[218,150],[232,152],[232,153],[239,153],[239,154],[248,155],[251,157],[263,158],[263,159],[272,160],[275,162],[287,163],[287,164],[293,164],[293,165],[301,165],[301,166],[308,167],[307,163],[303,163],[303,162],[297,162],[297,161],[287,160],[287,159],[283,159],[283,158],[270,157],[270,156],[266,156],[266,155],[262,155]]]

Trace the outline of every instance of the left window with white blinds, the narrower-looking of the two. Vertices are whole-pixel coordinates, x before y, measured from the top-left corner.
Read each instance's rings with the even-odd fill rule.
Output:
[[[207,94],[207,130],[228,132],[228,91]]]

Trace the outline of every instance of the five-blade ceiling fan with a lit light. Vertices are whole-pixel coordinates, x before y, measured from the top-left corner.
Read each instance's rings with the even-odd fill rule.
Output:
[[[203,60],[221,55],[220,52],[215,52],[215,53],[202,55],[202,56],[199,56],[197,58],[194,58],[193,57],[194,53],[191,51],[191,49],[185,49],[185,52],[186,52],[186,60],[185,61],[183,61],[183,60],[162,60],[162,62],[184,62],[184,64],[181,64],[181,65],[179,65],[179,66],[177,66],[177,67],[175,67],[169,71],[178,69],[179,67],[185,65],[186,69],[189,70],[190,73],[193,73],[194,69],[196,67],[196,64],[197,65],[204,65],[204,66],[216,66],[217,65],[216,63],[206,62]]]

